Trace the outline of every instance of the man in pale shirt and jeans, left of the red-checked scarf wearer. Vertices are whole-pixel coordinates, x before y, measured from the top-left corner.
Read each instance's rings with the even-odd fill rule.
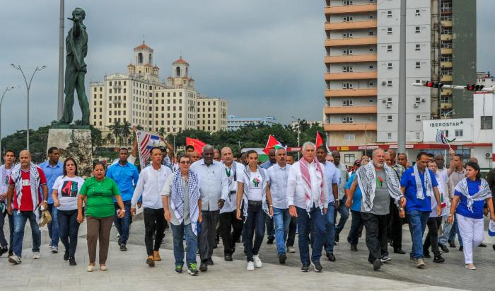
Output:
[[[287,205],[287,179],[291,165],[286,164],[286,150],[277,149],[275,153],[276,164],[267,170],[268,186],[272,194],[273,221],[275,224],[276,255],[279,263],[285,263],[286,246],[285,242],[289,233],[291,215],[289,215],[289,205]]]

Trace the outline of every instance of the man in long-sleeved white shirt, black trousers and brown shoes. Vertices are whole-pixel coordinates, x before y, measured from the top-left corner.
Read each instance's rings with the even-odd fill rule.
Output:
[[[131,200],[131,214],[136,215],[138,199],[141,196],[143,198],[144,244],[148,254],[146,263],[150,267],[155,266],[155,261],[161,261],[158,251],[160,250],[163,236],[165,236],[165,224],[167,224],[163,215],[160,193],[172,171],[161,164],[162,159],[161,149],[153,147],[151,149],[151,165],[139,173],[139,179]],[[154,245],[153,235],[155,236]]]

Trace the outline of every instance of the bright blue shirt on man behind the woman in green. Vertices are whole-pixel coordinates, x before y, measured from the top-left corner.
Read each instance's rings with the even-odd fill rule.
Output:
[[[132,199],[134,187],[137,185],[139,178],[136,166],[128,162],[124,166],[120,163],[113,164],[107,169],[107,178],[111,178],[117,183],[122,201],[130,201]]]

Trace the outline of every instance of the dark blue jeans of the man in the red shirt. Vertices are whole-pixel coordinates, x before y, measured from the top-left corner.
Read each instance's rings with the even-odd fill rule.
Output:
[[[33,236],[33,253],[40,251],[41,232],[36,222],[35,212],[13,210],[13,253],[19,258],[23,255],[24,227],[28,219]]]

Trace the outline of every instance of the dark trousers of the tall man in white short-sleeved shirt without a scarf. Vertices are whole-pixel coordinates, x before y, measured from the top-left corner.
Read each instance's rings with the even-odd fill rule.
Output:
[[[199,257],[201,261],[211,258],[216,245],[216,223],[219,221],[220,210],[202,210],[203,221],[199,232]]]

